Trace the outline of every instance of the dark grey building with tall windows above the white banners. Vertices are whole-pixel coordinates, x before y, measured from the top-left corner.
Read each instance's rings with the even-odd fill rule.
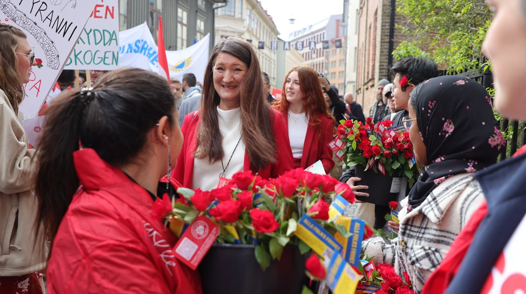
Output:
[[[214,34],[214,3],[225,0],[127,0],[119,1],[120,30],[148,24],[157,41],[158,18],[163,19],[166,50],[180,50],[206,34]],[[210,48],[213,46],[210,38]]]

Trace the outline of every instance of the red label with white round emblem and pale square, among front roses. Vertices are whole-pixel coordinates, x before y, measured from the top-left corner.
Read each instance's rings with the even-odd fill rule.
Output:
[[[175,245],[174,255],[195,270],[218,235],[219,225],[204,215],[198,216]]]

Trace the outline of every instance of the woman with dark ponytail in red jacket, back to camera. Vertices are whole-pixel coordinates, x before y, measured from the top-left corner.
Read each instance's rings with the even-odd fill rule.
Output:
[[[112,71],[55,98],[36,181],[50,293],[201,293],[152,212],[182,144],[174,96],[153,72]]]

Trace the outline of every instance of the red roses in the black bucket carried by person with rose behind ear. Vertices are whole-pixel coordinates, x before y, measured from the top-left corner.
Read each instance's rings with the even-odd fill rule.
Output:
[[[347,166],[362,165],[390,176],[407,176],[412,185],[418,177],[413,145],[403,126],[392,127],[392,123],[386,120],[373,124],[371,118],[365,124],[341,120],[335,139],[335,144],[341,146],[337,155]]]

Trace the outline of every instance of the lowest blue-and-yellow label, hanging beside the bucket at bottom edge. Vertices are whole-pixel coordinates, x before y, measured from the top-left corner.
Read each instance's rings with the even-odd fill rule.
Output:
[[[327,267],[327,285],[334,294],[354,293],[360,274],[340,254],[335,254]]]

